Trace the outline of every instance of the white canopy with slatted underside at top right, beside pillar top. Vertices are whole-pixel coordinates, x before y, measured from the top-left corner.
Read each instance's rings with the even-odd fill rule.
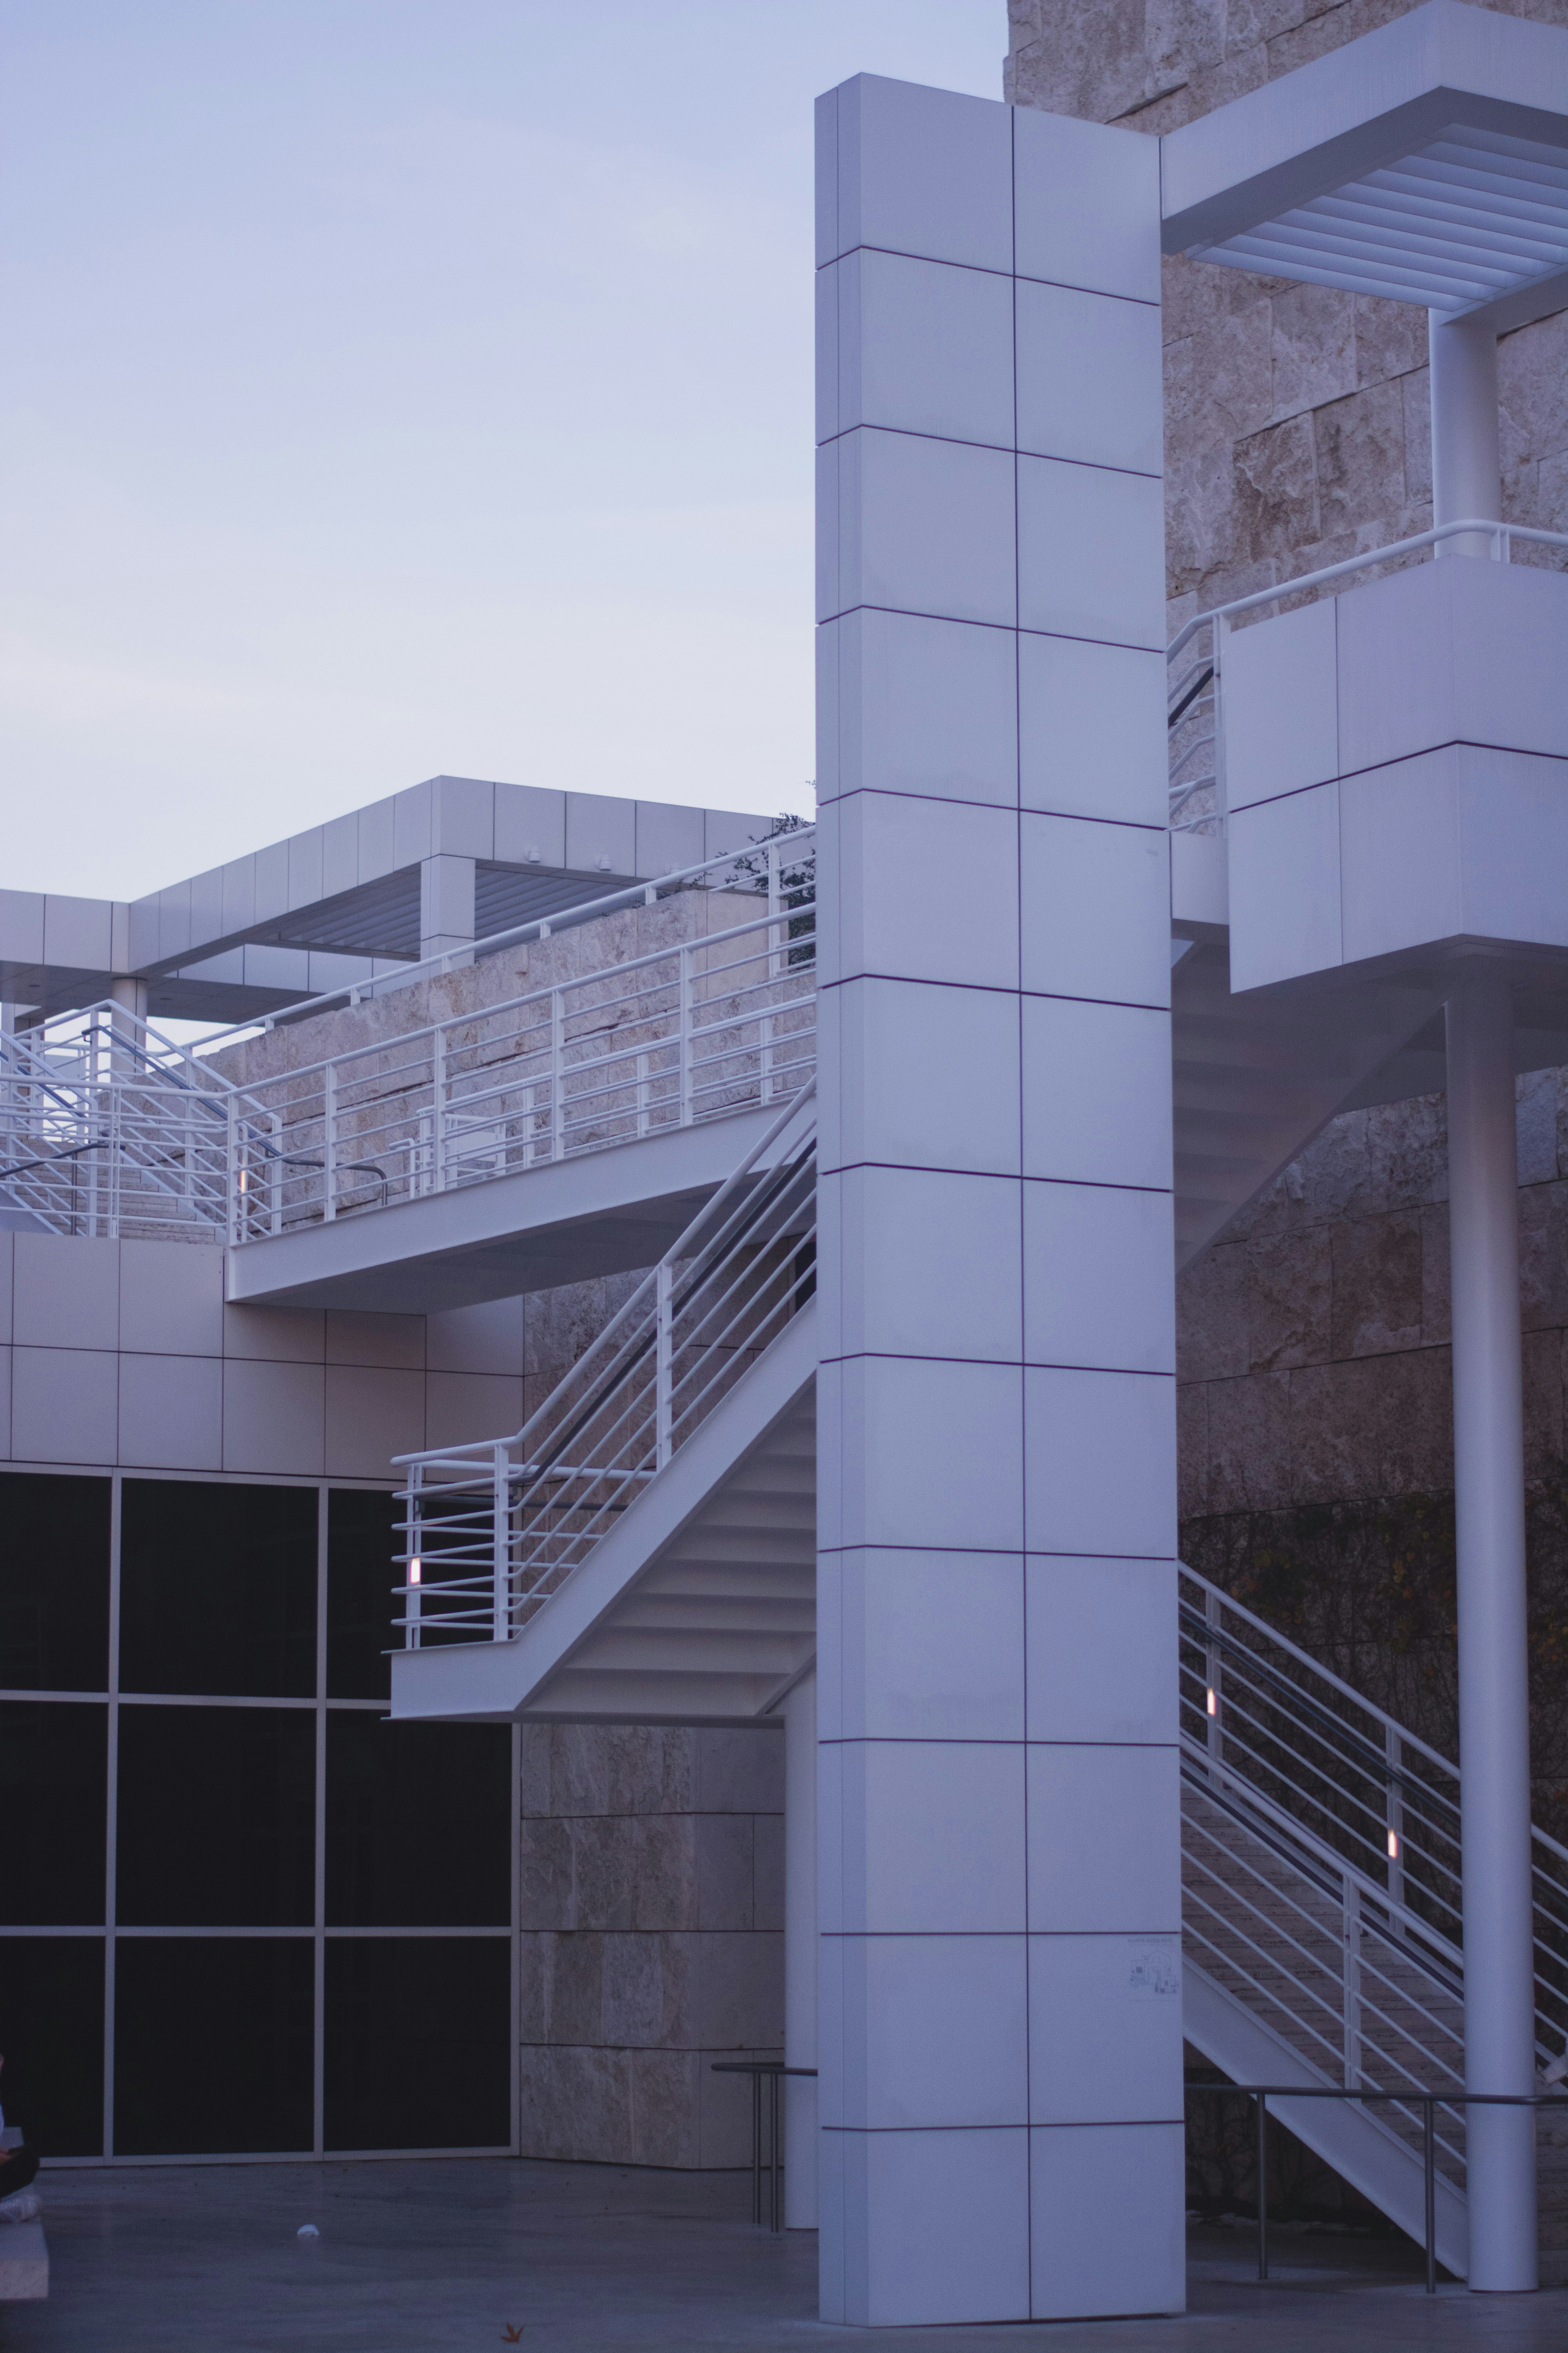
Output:
[[[1166,252],[1505,327],[1568,306],[1568,31],[1429,0],[1161,139]]]

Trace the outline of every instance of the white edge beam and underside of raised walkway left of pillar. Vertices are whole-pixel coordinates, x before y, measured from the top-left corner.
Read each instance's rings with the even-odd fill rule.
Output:
[[[425,1315],[654,1266],[776,1108],[738,1111],[228,1252],[242,1306]]]

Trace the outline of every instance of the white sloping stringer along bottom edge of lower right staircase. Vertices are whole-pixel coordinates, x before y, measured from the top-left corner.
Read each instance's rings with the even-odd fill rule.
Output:
[[[1246,2002],[1215,1984],[1208,1969],[1182,1960],[1182,2033],[1194,2049],[1234,2082],[1328,2085],[1284,2035],[1274,2033]],[[1422,2160],[1378,2115],[1352,2099],[1272,2099],[1269,2115],[1333,2165],[1352,2188],[1425,2245]],[[1469,2214],[1465,2193],[1436,2177],[1436,2259],[1455,2278],[1469,2268]]]

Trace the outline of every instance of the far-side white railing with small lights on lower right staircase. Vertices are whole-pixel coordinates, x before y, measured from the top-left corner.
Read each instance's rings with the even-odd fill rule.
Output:
[[[1194,1569],[1180,1572],[1182,1744],[1258,1824],[1293,1824],[1432,1953],[1462,1948],[1460,1767]],[[1568,1849],[1533,1826],[1535,2024],[1568,2038]]]

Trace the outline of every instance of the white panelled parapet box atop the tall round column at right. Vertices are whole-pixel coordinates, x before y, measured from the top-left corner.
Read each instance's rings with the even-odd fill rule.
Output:
[[[1462,941],[1563,958],[1566,645],[1568,579],[1483,558],[1227,640],[1232,988]]]

